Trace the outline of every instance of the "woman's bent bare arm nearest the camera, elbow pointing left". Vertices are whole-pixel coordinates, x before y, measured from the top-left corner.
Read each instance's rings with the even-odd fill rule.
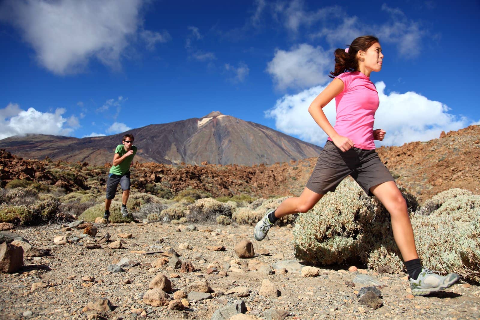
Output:
[[[313,120],[325,131],[325,133],[332,139],[333,143],[342,150],[343,152],[349,150],[353,147],[353,141],[348,137],[343,137],[336,133],[333,129],[330,122],[328,122],[327,117],[325,116],[324,110],[325,107],[333,98],[339,95],[344,88],[343,81],[340,79],[334,79],[325,89],[313,99],[310,107],[308,107],[308,112],[312,116]]]

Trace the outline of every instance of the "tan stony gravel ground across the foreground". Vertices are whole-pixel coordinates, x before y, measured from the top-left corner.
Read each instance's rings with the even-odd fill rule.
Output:
[[[351,266],[320,268],[315,277],[282,273],[279,269],[274,269],[274,274],[261,272],[260,265],[295,259],[292,229],[288,227],[274,227],[269,237],[257,242],[253,239],[253,227],[246,225],[195,224],[197,230],[193,231],[187,225],[168,223],[96,226],[96,237],[84,238],[83,230],[62,231],[62,225],[13,230],[36,248],[51,249],[51,255],[24,258],[24,267],[18,273],[0,273],[0,319],[210,319],[217,309],[236,300],[245,302],[249,319],[268,319],[264,313],[268,309],[287,311],[288,320],[480,318],[477,285],[460,282],[438,294],[413,297],[406,274],[379,274],[361,269],[362,266],[356,266],[358,270],[353,272],[349,271]],[[109,242],[87,249],[107,233],[111,236]],[[127,238],[130,233],[132,237]],[[53,239],[59,235],[80,239],[56,245]],[[256,255],[252,259],[239,259],[234,251],[243,239],[253,243]],[[122,242],[121,249],[108,247],[114,240]],[[211,251],[208,246],[223,246],[225,250]],[[154,268],[152,262],[169,259],[168,249],[174,249],[182,260],[191,260],[195,271],[180,272],[168,264]],[[205,261],[195,258],[199,254]],[[109,265],[123,258],[140,264],[125,267],[120,273],[108,271]],[[213,265],[219,274],[207,274]],[[226,275],[221,275],[222,271]],[[183,310],[147,305],[143,296],[150,282],[161,273],[172,283],[172,298],[173,291],[187,291],[189,284],[204,279],[208,280],[213,297],[202,301],[189,299],[189,306]],[[265,279],[276,286],[280,296],[259,295]],[[357,297],[361,287],[373,284],[369,281],[381,291],[380,308],[362,305]],[[248,296],[226,294],[236,287],[247,287]],[[100,297],[108,298],[113,310],[85,308]]]

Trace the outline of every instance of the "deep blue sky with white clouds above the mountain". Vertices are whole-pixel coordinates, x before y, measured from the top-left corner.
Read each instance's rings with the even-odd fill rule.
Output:
[[[323,145],[307,108],[373,34],[386,145],[479,124],[479,1],[0,1],[0,139],[85,137],[220,111]],[[325,107],[335,121],[335,105]],[[380,144],[378,144],[380,145]]]

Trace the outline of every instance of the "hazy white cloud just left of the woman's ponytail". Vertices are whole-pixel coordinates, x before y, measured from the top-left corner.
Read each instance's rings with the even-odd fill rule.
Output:
[[[267,64],[267,72],[280,90],[288,87],[304,88],[329,80],[332,57],[322,47],[301,44],[289,51],[276,49]]]

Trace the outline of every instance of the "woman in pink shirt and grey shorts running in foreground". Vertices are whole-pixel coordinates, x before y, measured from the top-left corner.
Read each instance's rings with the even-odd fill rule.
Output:
[[[374,140],[382,141],[385,131],[373,130],[379,98],[370,81],[370,73],[382,70],[383,58],[382,47],[374,36],[360,36],[348,48],[335,50],[335,70],[330,72],[334,79],[308,108],[328,140],[300,197],[288,198],[276,210],[267,211],[255,225],[253,235],[256,240],[263,240],[279,218],[309,211],[324,194],[335,191],[344,178],[351,176],[390,213],[393,235],[410,277],[412,294],[425,296],[455,284],[458,275],[441,276],[422,268],[407,203],[375,152]],[[333,98],[336,102],[335,127],[328,122],[322,109]]]

